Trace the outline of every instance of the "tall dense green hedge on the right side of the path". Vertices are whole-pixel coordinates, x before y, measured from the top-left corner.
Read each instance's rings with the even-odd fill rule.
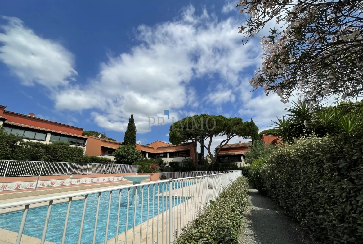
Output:
[[[272,150],[262,191],[323,243],[363,243],[363,132],[314,136]]]

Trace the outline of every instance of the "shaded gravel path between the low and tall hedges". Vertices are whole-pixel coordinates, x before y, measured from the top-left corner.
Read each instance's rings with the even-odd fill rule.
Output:
[[[258,195],[256,189],[249,189],[248,195],[251,205],[239,244],[316,244],[271,199]]]

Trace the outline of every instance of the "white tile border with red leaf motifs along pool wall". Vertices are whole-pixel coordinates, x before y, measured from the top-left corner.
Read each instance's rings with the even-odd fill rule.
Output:
[[[78,178],[78,179],[60,179],[60,180],[40,180],[38,181],[37,189],[45,187],[59,187],[69,185],[82,185],[89,183],[106,183],[112,181],[125,180],[123,176],[111,177],[92,177],[92,178]],[[13,191],[21,189],[35,188],[37,181],[23,181],[23,182],[5,182],[0,184],[0,192]]]

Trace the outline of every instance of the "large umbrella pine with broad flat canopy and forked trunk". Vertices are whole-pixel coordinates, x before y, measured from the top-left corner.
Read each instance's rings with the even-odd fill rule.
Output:
[[[169,141],[173,144],[180,144],[189,140],[199,142],[207,149],[211,156],[212,169],[221,148],[233,137],[249,138],[251,133],[250,122],[243,122],[241,118],[226,118],[222,115],[194,115],[185,117],[170,126]],[[213,157],[211,148],[213,137],[223,136],[219,148]],[[209,139],[207,143],[205,140]]]

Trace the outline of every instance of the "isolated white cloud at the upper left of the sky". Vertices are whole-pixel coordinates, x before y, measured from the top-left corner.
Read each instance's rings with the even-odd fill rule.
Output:
[[[15,17],[3,17],[0,29],[0,61],[24,85],[42,84],[52,88],[74,80],[74,55],[61,44],[37,36]]]

